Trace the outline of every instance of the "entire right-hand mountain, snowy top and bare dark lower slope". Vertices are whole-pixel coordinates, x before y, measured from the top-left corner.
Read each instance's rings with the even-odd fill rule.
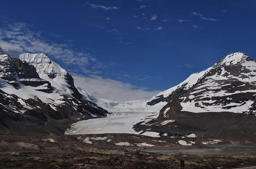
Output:
[[[256,137],[256,62],[232,53],[212,67],[154,96],[147,104],[168,102],[157,119],[136,131],[184,137]]]

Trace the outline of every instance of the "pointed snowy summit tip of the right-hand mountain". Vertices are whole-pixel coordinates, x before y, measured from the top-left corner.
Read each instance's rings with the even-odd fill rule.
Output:
[[[239,63],[244,63],[247,61],[254,61],[251,59],[249,56],[247,56],[244,53],[241,52],[236,52],[236,53],[231,53],[225,56],[223,59],[215,63],[213,66],[229,66],[229,65],[236,65]]]

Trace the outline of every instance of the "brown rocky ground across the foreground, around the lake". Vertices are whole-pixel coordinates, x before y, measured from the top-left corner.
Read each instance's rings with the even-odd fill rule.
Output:
[[[193,138],[203,142],[202,138]],[[150,149],[195,149],[213,147],[244,147],[246,140],[231,144],[230,141],[203,146],[181,146],[177,138],[151,138],[142,135],[53,135],[34,137],[16,134],[0,135],[0,168],[55,168],[55,169],[227,169],[256,165],[256,152],[237,154],[153,153]],[[191,138],[190,138],[191,140]],[[89,141],[89,142],[88,142]],[[91,141],[91,142],[90,142]],[[130,143],[118,146],[115,143]],[[250,145],[256,146],[253,141]],[[156,146],[138,146],[136,143]],[[247,146],[248,147],[248,146]],[[252,146],[250,146],[252,147]]]

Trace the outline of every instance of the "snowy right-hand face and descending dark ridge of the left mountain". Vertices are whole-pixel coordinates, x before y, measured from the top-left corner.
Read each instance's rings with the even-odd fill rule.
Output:
[[[79,93],[75,87],[73,77],[45,54],[24,53],[20,54],[19,58],[33,65],[39,76],[51,82],[52,86],[58,89],[58,93],[69,95],[69,97],[73,98],[73,102],[77,104],[77,111],[79,111],[79,113],[85,115],[107,115],[108,112],[106,110],[84,99],[82,94]]]

